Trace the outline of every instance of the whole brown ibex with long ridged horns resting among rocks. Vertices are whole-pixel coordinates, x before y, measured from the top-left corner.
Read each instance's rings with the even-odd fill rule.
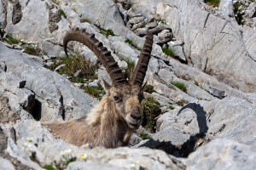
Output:
[[[143,100],[143,80],[153,44],[153,35],[148,32],[137,66],[128,80],[107,48],[103,47],[94,34],[79,28],[68,31],[63,40],[65,53],[67,43],[81,42],[93,51],[105,66],[113,82],[109,85],[103,80],[106,94],[88,116],[71,122],[50,122],[50,130],[75,145],[90,144],[116,148],[128,145],[131,134],[142,123],[141,102]]]

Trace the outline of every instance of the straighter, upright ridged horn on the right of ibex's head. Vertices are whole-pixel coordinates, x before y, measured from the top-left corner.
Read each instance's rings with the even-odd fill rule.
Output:
[[[149,62],[150,54],[152,51],[152,44],[153,44],[153,34],[150,31],[148,31],[146,40],[143,45],[142,52],[140,54],[140,58],[137,61],[137,66],[130,80],[130,83],[132,85],[137,84],[140,87],[143,86],[143,81],[146,76],[146,72],[148,70],[148,62]]]

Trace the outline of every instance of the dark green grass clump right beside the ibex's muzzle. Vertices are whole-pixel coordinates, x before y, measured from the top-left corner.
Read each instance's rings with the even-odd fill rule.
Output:
[[[143,99],[142,102],[143,123],[142,126],[154,133],[156,130],[156,117],[160,115],[160,103],[153,97]]]

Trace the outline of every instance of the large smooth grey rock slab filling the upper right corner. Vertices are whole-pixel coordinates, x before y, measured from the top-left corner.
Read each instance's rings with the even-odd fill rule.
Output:
[[[209,14],[193,0],[137,0],[133,8],[148,18],[158,14],[171,24],[174,37],[185,42],[183,49],[185,57],[191,59],[189,65],[193,63],[195,68],[236,89],[255,92],[256,53],[251,52],[256,49],[255,30]]]

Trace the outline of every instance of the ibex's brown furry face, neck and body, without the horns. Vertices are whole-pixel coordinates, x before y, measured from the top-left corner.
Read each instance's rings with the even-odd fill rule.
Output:
[[[108,84],[107,84],[108,86]],[[106,87],[106,85],[105,85]],[[140,126],[131,114],[140,116],[140,101],[143,90],[137,86],[124,85],[123,87],[109,87],[107,94],[96,105],[88,116],[81,117],[71,122],[44,123],[55,135],[70,144],[90,146],[104,146],[115,148],[129,143],[131,133]],[[120,101],[116,102],[113,96]],[[132,111],[134,113],[132,113]],[[134,126],[129,126],[129,122]]]

